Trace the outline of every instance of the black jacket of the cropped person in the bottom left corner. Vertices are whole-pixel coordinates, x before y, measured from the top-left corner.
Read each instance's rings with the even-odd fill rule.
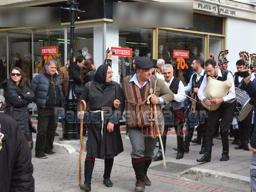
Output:
[[[0,191],[35,192],[31,150],[17,122],[0,114],[2,149],[0,150]]]

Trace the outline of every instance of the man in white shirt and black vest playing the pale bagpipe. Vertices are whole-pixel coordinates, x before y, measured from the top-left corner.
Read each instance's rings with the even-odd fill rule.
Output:
[[[236,93],[235,93],[235,86],[233,76],[230,71],[227,70],[220,70],[217,65],[216,61],[212,59],[208,59],[204,63],[204,70],[206,71],[207,75],[204,76],[202,84],[198,90],[198,98],[201,101],[204,101],[206,105],[209,107],[212,103],[219,104],[221,103],[220,107],[215,111],[209,111],[208,113],[208,122],[207,128],[205,133],[205,147],[206,152],[204,156],[200,159],[197,159],[198,162],[209,162],[211,161],[211,154],[212,154],[212,140],[213,134],[215,130],[218,128],[218,121],[220,121],[220,135],[222,141],[222,154],[221,154],[221,161],[229,160],[229,143],[228,143],[228,131],[233,120],[233,113],[236,108]],[[214,79],[219,81],[230,81],[232,86],[228,90],[227,96],[219,99],[209,99],[204,96],[204,90],[207,86],[207,77],[211,76]],[[216,90],[218,91],[218,90]]]

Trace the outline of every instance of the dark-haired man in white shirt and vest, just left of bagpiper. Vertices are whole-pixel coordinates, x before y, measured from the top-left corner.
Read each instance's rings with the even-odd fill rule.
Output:
[[[195,104],[195,112],[193,113],[191,105],[193,101],[190,101],[190,112],[188,114],[188,121],[186,123],[186,135],[184,140],[184,152],[189,152],[189,145],[193,137],[193,133],[195,130],[195,126],[198,125],[198,134],[202,135],[202,147],[199,154],[205,153],[205,128],[207,125],[207,119],[205,117],[201,117],[200,115],[204,114],[201,111],[206,111],[206,109],[201,104],[201,101],[198,99],[198,96],[194,96],[194,94],[198,93],[199,87],[204,79],[206,72],[204,71],[204,60],[196,57],[192,60],[191,64],[192,70],[195,72],[189,81],[189,84],[185,87],[186,92],[191,92],[191,96],[195,98],[197,101]],[[205,112],[206,113],[206,112]],[[201,143],[201,139],[200,139]]]

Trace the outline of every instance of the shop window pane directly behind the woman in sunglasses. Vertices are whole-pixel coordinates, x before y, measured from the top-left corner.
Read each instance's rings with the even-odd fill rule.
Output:
[[[8,32],[9,72],[12,67],[20,67],[24,73],[24,83],[30,87],[32,80],[32,30]]]

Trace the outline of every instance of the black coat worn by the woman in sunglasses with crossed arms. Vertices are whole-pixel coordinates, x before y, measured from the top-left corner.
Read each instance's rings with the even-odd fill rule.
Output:
[[[6,99],[5,113],[17,121],[17,124],[27,141],[32,140],[29,131],[29,111],[28,105],[32,103],[35,94],[26,85],[23,89],[17,87],[14,81],[7,79],[3,82],[4,97]],[[26,93],[30,94],[26,94]],[[18,97],[20,96],[20,98]]]

